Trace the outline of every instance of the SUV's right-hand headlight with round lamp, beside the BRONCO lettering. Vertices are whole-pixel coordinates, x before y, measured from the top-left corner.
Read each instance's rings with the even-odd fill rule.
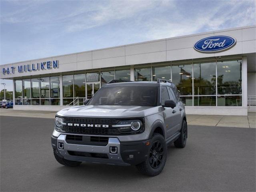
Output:
[[[139,133],[143,132],[143,123],[142,120],[121,120],[116,125],[112,125],[112,127],[118,128],[118,130],[122,133]]]

